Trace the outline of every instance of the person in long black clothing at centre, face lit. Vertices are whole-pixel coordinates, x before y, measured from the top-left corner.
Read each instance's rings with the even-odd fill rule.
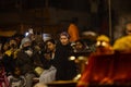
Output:
[[[61,33],[59,40],[53,58],[53,65],[57,69],[56,79],[70,80],[76,75],[76,65],[74,61],[69,60],[73,52],[69,34],[66,32]]]

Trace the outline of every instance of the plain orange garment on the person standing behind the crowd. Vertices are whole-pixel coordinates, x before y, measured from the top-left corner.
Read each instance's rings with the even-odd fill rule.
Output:
[[[70,41],[75,41],[78,39],[80,39],[80,35],[79,35],[79,28],[76,25],[74,25],[73,23],[71,23],[69,25],[69,28],[68,28],[68,33],[70,35]]]

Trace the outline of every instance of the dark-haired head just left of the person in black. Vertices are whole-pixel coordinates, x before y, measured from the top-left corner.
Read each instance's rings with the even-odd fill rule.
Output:
[[[53,39],[46,40],[46,48],[49,51],[55,51],[56,49],[56,41]]]

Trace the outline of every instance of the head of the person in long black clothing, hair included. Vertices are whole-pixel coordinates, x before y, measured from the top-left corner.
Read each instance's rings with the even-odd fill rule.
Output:
[[[60,34],[60,42],[63,45],[63,46],[67,46],[69,42],[70,42],[70,35],[66,32],[61,33]]]

